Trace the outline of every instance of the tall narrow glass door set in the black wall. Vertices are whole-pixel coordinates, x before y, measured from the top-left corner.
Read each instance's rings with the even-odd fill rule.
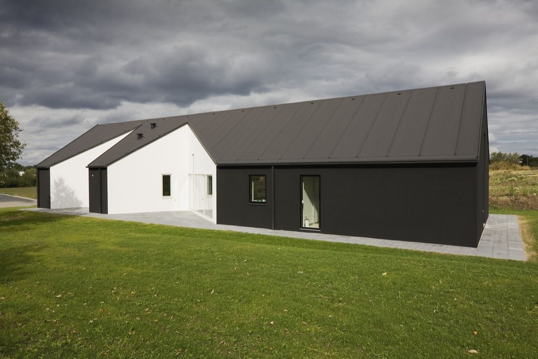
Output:
[[[320,176],[301,176],[301,228],[320,229]]]

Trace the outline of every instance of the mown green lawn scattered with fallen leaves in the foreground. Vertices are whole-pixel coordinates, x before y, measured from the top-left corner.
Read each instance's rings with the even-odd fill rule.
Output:
[[[0,210],[0,357],[521,358],[536,333],[537,263]]]

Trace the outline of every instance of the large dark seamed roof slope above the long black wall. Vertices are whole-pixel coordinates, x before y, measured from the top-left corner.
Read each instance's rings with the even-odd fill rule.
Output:
[[[136,131],[88,167],[186,124],[217,165],[476,162],[484,101],[479,81],[135,121]]]

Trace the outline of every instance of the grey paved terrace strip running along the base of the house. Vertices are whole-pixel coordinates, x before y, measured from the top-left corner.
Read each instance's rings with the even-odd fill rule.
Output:
[[[42,208],[32,208],[29,210],[61,213],[63,215],[84,216],[104,219],[119,219],[131,222],[166,224],[180,227],[193,227],[211,230],[237,231],[247,233],[268,234],[270,236],[282,236],[293,238],[304,238],[314,240],[325,240],[330,242],[364,244],[378,247],[404,248],[409,250],[460,254],[463,256],[478,256],[499,259],[525,260],[525,251],[519,234],[517,216],[512,215],[490,215],[487,220],[482,239],[478,248],[450,246],[442,244],[408,242],[402,240],[377,239],[365,237],[337,236],[336,234],[323,234],[312,232],[296,232],[270,230],[264,228],[231,226],[224,224],[214,224],[205,217],[191,211],[171,211],[171,212],[147,212],[128,213],[122,215],[101,215],[100,213],[90,213],[88,208],[71,208],[49,210]]]

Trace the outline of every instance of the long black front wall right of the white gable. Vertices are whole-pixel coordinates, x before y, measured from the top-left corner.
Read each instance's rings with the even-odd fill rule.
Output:
[[[218,223],[270,228],[270,203],[259,210],[247,205],[248,175],[259,171],[217,169]],[[275,167],[274,225],[300,230],[300,177],[316,175],[321,233],[476,247],[476,171],[476,164]]]

